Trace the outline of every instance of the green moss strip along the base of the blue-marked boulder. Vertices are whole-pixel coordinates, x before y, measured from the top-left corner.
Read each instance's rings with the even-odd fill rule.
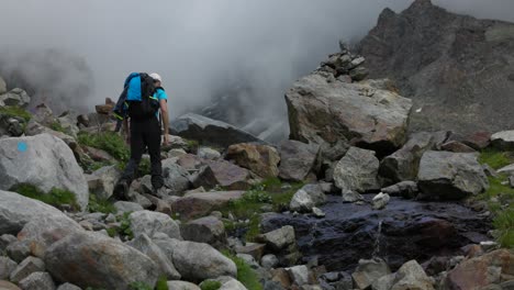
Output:
[[[26,198],[35,199],[56,208],[70,205],[72,210],[78,211],[80,207],[77,203],[75,194],[68,190],[53,188],[49,192],[43,192],[33,185],[18,185],[10,189]]]

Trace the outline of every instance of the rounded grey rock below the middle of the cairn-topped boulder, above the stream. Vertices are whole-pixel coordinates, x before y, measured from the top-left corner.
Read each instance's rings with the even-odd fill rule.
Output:
[[[379,160],[375,152],[351,147],[337,163],[334,171],[335,185],[346,191],[360,193],[379,190]]]

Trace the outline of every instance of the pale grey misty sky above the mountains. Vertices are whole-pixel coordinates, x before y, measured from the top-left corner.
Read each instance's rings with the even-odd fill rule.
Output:
[[[514,22],[514,0],[434,0],[450,11]],[[23,71],[65,108],[116,99],[131,71],[158,72],[171,118],[220,91],[250,87],[242,114],[287,119],[283,94],[356,42],[384,8],[412,0],[2,1],[0,74]],[[9,86],[9,83],[8,83]],[[252,107],[249,104],[249,107]],[[244,124],[238,124],[244,125]]]

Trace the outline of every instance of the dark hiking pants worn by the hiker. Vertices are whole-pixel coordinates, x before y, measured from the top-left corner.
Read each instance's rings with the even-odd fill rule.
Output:
[[[157,118],[147,120],[131,119],[131,159],[122,179],[130,185],[139,167],[141,157],[148,147],[152,163],[152,186],[157,190],[163,187],[163,166],[160,164],[160,124]]]

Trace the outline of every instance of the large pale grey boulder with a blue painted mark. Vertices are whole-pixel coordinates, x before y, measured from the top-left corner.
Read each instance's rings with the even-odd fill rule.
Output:
[[[44,192],[66,189],[83,210],[88,205],[88,182],[74,153],[62,140],[41,134],[0,140],[0,189],[30,183]]]

